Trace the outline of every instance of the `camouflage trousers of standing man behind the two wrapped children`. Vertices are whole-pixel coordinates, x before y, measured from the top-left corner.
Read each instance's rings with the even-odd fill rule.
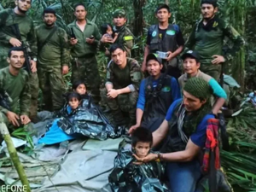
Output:
[[[101,78],[95,56],[73,58],[72,82],[83,80],[86,90],[90,93],[93,101],[98,104],[101,101],[100,85]]]

